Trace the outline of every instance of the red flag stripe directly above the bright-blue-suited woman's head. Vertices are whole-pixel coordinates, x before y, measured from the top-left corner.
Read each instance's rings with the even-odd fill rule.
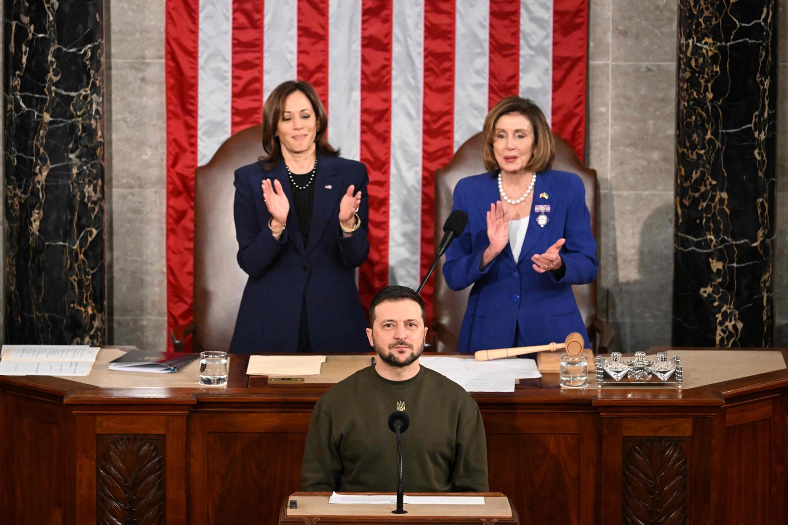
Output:
[[[488,108],[518,94],[520,81],[520,5],[490,2]]]

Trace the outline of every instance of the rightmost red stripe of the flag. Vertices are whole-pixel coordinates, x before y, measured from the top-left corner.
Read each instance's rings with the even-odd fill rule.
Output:
[[[552,126],[585,159],[588,0],[553,0]]]

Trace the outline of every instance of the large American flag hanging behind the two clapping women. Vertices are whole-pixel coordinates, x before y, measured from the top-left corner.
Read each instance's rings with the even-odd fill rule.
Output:
[[[312,83],[329,142],[369,170],[366,306],[418,286],[433,174],[500,98],[532,98],[583,157],[587,43],[587,0],[167,0],[169,327],[191,318],[195,168],[260,123],[277,84]],[[422,296],[431,312],[431,284]]]

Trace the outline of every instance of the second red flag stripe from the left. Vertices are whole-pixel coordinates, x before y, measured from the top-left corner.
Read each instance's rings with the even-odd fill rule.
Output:
[[[264,3],[232,2],[232,133],[262,121]]]

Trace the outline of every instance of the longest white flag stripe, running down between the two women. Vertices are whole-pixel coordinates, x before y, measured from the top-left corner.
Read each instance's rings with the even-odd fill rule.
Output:
[[[420,280],[423,78],[423,2],[394,2],[388,283],[411,288]]]

